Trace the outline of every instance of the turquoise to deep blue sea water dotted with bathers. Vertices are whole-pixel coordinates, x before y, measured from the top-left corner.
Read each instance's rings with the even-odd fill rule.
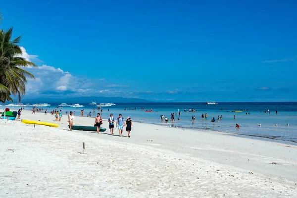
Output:
[[[90,102],[88,102],[90,103]],[[91,111],[92,117],[93,108],[98,112],[96,105],[81,103],[84,107],[73,108],[64,107],[63,114],[71,110],[76,111],[76,116],[80,116],[80,110],[84,109],[85,116]],[[52,103],[47,107],[48,112],[54,110],[58,104]],[[3,106],[2,106],[3,107]],[[130,109],[129,109],[130,107]],[[153,109],[153,112],[145,112],[141,110]],[[18,108],[18,107],[14,107]],[[216,105],[205,105],[202,103],[117,103],[114,106],[101,107],[102,117],[107,119],[109,113],[114,117],[118,117],[121,113],[126,119],[128,116],[134,122],[143,122],[171,127],[181,127],[197,130],[213,130],[226,132],[234,136],[242,136],[246,138],[261,139],[266,141],[280,142],[285,144],[297,145],[297,102],[220,102]],[[127,110],[124,110],[127,108]],[[136,108],[136,110],[132,110]],[[189,108],[196,109],[196,112],[184,112],[184,109],[189,111]],[[32,109],[31,106],[25,109]],[[109,111],[108,111],[109,109]],[[181,111],[181,116],[178,115],[178,109]],[[243,110],[243,112],[230,112],[233,110]],[[246,110],[244,110],[246,109]],[[248,110],[247,110],[248,109]],[[270,113],[265,113],[269,109]],[[278,114],[276,114],[278,110]],[[177,115],[175,115],[175,112]],[[249,115],[246,113],[250,113]],[[171,113],[174,113],[175,123],[171,123]],[[207,113],[208,120],[202,120],[201,114]],[[169,118],[168,123],[161,123],[160,115],[165,115]],[[192,116],[195,115],[196,120],[192,121]],[[223,116],[218,122],[211,122],[218,116]],[[234,115],[236,119],[234,119]],[[178,120],[178,117],[180,120]],[[241,127],[237,129],[236,124]],[[261,126],[258,126],[261,124]],[[278,126],[276,126],[278,124]],[[289,126],[287,124],[290,124]]]

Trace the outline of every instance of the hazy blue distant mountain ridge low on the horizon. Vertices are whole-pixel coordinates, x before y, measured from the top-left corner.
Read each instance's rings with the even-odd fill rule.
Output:
[[[92,101],[97,102],[97,103],[150,102],[146,99],[132,99],[132,98],[122,98],[122,97],[78,97],[78,98],[65,98],[65,99],[35,98],[35,99],[23,99],[21,102],[22,103],[33,103],[33,102],[91,103]]]

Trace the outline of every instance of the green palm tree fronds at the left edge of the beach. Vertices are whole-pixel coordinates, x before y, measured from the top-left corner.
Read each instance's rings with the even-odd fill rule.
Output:
[[[18,46],[21,36],[11,41],[12,28],[0,30],[0,101],[10,100],[10,95],[17,96],[18,102],[26,93],[26,78],[34,76],[22,67],[37,67],[33,62],[20,57],[22,50]]]

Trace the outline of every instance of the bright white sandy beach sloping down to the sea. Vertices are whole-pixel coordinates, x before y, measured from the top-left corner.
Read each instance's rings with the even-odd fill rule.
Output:
[[[23,111],[22,119],[54,116]],[[297,198],[295,146],[142,123],[131,138],[70,132],[66,119],[58,128],[0,120],[1,198]]]

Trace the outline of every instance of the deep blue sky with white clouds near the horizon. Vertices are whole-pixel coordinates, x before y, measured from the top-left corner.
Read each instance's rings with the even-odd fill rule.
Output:
[[[25,99],[297,101],[297,1],[1,2],[22,35]]]

